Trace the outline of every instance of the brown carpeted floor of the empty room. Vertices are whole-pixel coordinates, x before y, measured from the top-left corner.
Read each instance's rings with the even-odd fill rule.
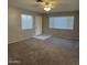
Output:
[[[34,37],[9,44],[8,65],[79,65],[79,43],[66,39]]]

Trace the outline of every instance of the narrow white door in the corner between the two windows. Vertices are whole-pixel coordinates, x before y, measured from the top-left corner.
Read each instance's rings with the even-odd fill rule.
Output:
[[[35,35],[42,34],[42,17],[36,15],[35,17]]]

